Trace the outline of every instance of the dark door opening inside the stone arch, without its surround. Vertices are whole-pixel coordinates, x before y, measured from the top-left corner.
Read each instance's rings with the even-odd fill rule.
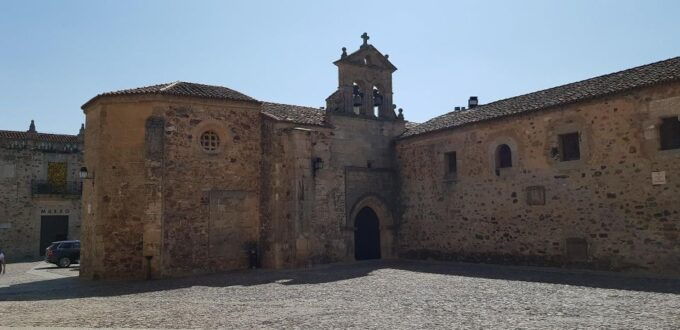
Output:
[[[354,258],[380,259],[380,221],[370,207],[364,207],[354,220]]]

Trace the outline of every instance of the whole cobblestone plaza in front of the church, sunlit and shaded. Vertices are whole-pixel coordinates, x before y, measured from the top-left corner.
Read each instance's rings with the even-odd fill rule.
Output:
[[[680,328],[680,280],[609,273],[416,261],[158,281],[86,281],[42,262],[8,270],[0,326]]]

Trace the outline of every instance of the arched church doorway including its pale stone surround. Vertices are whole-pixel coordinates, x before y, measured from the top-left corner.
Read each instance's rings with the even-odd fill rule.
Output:
[[[394,257],[394,220],[382,198],[365,195],[352,207],[347,218],[348,247],[352,250],[347,257],[351,260],[389,259]],[[366,240],[365,243],[363,240]]]

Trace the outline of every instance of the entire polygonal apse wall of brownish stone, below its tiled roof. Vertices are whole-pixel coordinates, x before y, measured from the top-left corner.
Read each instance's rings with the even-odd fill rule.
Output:
[[[248,267],[259,228],[259,104],[117,97],[86,109],[82,276]],[[201,135],[214,132],[215,150]],[[226,245],[225,245],[226,244]]]

